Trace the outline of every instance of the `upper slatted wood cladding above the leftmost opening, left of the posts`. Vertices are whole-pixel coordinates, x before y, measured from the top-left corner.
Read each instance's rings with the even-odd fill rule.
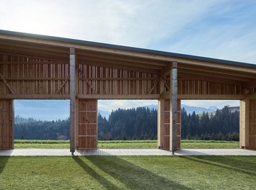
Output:
[[[66,78],[69,78],[69,63],[50,63],[50,60],[1,55],[0,73],[15,94],[56,94]],[[0,94],[12,94],[0,80]],[[58,94],[69,94],[69,81]]]

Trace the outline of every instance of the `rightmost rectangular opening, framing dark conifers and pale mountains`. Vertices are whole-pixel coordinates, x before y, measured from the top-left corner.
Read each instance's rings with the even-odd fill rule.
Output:
[[[239,100],[182,100],[181,148],[239,148]]]

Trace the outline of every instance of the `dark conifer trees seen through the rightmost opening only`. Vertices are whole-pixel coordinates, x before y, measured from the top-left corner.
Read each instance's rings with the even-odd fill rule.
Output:
[[[195,140],[239,140],[239,112],[231,112],[229,107],[217,109],[215,114],[187,114],[181,112],[182,139]]]

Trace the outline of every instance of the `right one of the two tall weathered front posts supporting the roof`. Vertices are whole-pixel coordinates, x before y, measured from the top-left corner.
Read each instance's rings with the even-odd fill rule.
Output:
[[[177,150],[177,62],[172,62],[170,71],[170,117],[169,150]]]

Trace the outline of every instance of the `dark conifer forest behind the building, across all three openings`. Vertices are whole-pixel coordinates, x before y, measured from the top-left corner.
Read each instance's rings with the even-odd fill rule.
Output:
[[[229,107],[215,113],[181,112],[182,139],[239,140],[239,112]],[[40,121],[15,117],[15,139],[68,140],[69,119]],[[157,137],[157,110],[146,107],[117,109],[109,119],[98,115],[99,140],[146,140]]]

